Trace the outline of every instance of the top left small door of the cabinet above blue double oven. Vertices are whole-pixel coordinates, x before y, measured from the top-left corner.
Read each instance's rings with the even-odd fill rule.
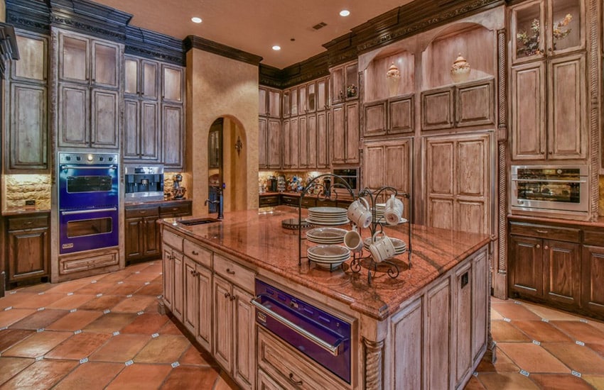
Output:
[[[59,33],[59,79],[89,82],[90,40]]]

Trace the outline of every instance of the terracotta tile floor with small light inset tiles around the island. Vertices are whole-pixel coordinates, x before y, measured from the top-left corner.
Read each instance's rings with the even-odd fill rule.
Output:
[[[1,389],[237,389],[157,311],[161,261],[7,291]],[[492,299],[497,362],[466,389],[602,389],[604,323]]]

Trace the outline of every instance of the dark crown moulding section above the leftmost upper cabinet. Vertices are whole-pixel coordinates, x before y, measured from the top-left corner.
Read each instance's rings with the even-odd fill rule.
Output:
[[[6,23],[23,30],[48,34],[50,11],[43,1],[6,0]]]

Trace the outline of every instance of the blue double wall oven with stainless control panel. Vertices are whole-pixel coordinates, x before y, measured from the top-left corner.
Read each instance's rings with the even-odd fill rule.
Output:
[[[119,155],[58,155],[59,253],[119,245]]]

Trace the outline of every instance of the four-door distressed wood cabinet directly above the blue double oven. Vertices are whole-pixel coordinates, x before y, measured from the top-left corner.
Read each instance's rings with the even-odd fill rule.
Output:
[[[123,45],[54,30],[58,40],[58,146],[119,148]]]

